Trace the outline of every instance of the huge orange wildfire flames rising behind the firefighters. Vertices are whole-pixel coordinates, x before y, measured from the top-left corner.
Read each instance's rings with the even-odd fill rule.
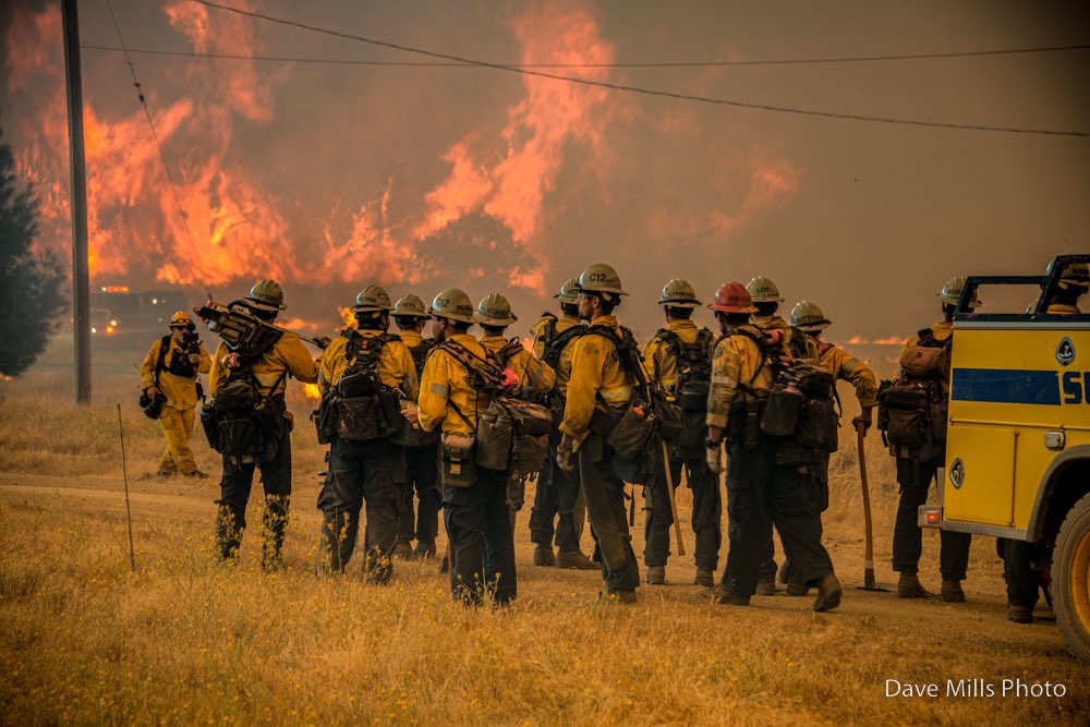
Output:
[[[299,11],[288,8],[283,14]],[[616,72],[602,68],[616,52],[593,8],[564,2],[518,8],[504,24],[521,62],[586,64],[565,73],[598,81]],[[8,73],[0,83],[14,107],[34,113],[5,114],[3,122],[10,126],[5,131],[17,173],[41,198],[40,244],[65,251],[69,160],[60,11],[57,4],[41,10],[21,5],[13,14],[4,37]],[[172,47],[184,43],[195,52],[276,50],[266,47],[267,25],[184,0],[119,20],[123,29],[158,23],[162,38],[174,35]],[[361,149],[383,143],[367,135],[365,122],[374,118],[378,128],[390,126],[393,118],[400,124],[392,100],[389,109],[368,107],[360,118],[343,119],[342,126],[363,131],[359,148],[328,148],[320,132],[299,125],[298,111],[307,101],[293,97],[301,93],[298,75],[303,69],[266,65],[258,72],[256,62],[193,58],[136,57],[134,62],[184,217],[135,92],[126,86],[121,57],[85,52],[90,271],[96,284],[144,278],[219,288],[272,277],[314,287],[362,281],[415,286],[469,276],[541,296],[572,272],[554,269],[554,228],[562,222],[578,229],[578,222],[562,221],[572,210],[596,219],[594,208],[614,206],[618,177],[633,177],[622,163],[632,154],[620,149],[642,148],[638,136],[645,134],[683,140],[698,125],[687,110],[652,118],[632,97],[605,88],[479,70],[474,73],[491,75],[474,78],[507,89],[499,104],[470,121],[468,112],[450,109],[452,119],[461,119],[457,131],[432,148],[412,149],[422,159],[411,172],[391,167],[368,168],[363,174],[358,173],[366,167]],[[343,89],[338,87],[336,95]],[[323,113],[320,107],[314,110],[312,116]],[[276,148],[286,140],[305,149],[289,158],[306,159],[308,168],[269,169],[264,163],[266,144]],[[789,163],[727,148],[717,153],[725,179],[714,183],[723,191],[715,209],[695,213],[682,190],[664,192],[661,204],[640,211],[632,223],[647,251],[662,251],[679,237],[728,233],[789,197],[799,177]],[[337,191],[332,196],[293,179],[313,180],[322,172],[329,175],[323,183]],[[671,198],[674,194],[678,196]],[[589,262],[578,240],[562,244],[579,253],[581,263]],[[349,316],[346,324],[351,325]]]

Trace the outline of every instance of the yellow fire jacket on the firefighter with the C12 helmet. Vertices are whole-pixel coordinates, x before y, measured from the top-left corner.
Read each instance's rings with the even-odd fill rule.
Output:
[[[595,318],[590,328],[596,326],[613,328],[621,335],[615,316]],[[595,408],[609,414],[625,413],[632,401],[635,378],[621,369],[617,347],[603,336],[580,336],[571,348],[571,379],[560,432],[581,443]]]

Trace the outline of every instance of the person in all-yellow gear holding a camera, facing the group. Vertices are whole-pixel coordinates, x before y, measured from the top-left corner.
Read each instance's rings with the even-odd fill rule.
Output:
[[[197,469],[190,447],[193,432],[193,410],[197,405],[197,374],[207,374],[211,356],[196,335],[196,327],[184,311],[170,317],[170,335],[152,343],[140,367],[141,388],[152,401],[162,400],[159,427],[167,440],[167,450],[159,460],[159,477],[181,473],[186,477],[206,480]]]

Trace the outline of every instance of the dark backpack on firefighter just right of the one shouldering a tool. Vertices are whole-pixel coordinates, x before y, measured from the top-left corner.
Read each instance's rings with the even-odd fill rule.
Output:
[[[389,437],[400,431],[404,417],[398,393],[383,384],[378,365],[386,344],[401,337],[382,334],[368,338],[352,329],[342,335],[348,339],[348,367],[318,405],[318,440],[328,444],[334,438],[368,441]]]

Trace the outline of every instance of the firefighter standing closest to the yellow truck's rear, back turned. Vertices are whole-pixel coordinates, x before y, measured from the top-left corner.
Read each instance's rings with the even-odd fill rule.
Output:
[[[901,351],[901,362],[913,351],[940,349],[947,352],[945,356],[932,356],[944,361],[943,371],[934,373],[938,381],[937,397],[942,402],[949,398],[949,358],[948,351],[954,336],[954,310],[957,307],[961,291],[965,289],[965,278],[952,278],[943,286],[936,298],[942,300],[943,319],[924,328],[911,337]],[[980,305],[979,300],[970,302],[970,310]],[[901,379],[912,378],[903,372]],[[923,380],[923,379],[921,379]],[[934,420],[936,417],[929,416]],[[933,422],[933,425],[935,423]],[[941,426],[945,427],[945,420]],[[891,433],[892,434],[892,433]],[[897,519],[893,533],[893,569],[900,573],[897,581],[897,595],[901,598],[918,598],[930,595],[920,584],[918,577],[922,541],[917,514],[920,506],[928,501],[928,490],[940,468],[945,463],[945,435],[936,437],[936,444],[925,446],[916,451],[905,451],[891,447],[897,460],[897,483],[900,486],[900,501],[897,506]],[[941,486],[941,485],[940,485]],[[941,549],[938,567],[942,571],[943,585],[940,596],[948,603],[965,601],[961,581],[966,578],[969,567],[969,533],[955,533],[943,530],[940,533]]]

